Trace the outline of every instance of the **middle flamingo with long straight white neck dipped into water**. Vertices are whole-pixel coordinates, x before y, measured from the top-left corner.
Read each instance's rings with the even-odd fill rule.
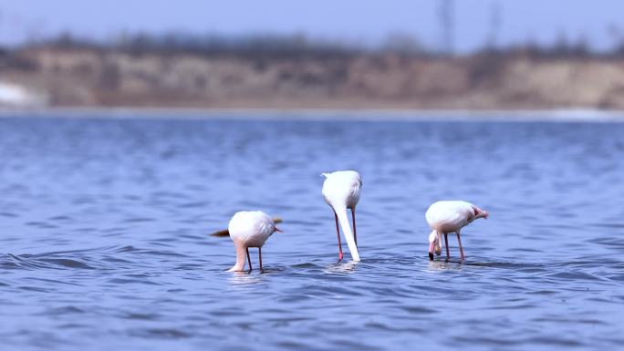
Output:
[[[362,180],[359,173],[354,170],[338,170],[333,173],[323,173],[326,180],[323,182],[323,197],[328,205],[334,210],[336,218],[336,232],[338,233],[338,261],[342,260],[342,244],[340,243],[340,230],[338,222],[342,227],[342,232],[347,239],[348,251],[354,261],[359,261],[358,234],[356,230],[355,208],[359,201],[359,190],[362,187]],[[348,225],[347,209],[351,210],[353,219],[353,232]]]

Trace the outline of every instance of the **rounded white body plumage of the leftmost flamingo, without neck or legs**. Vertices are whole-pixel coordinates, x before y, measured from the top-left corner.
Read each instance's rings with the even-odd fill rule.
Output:
[[[230,237],[245,247],[262,247],[266,239],[276,232],[276,224],[262,211],[236,212],[227,226]]]

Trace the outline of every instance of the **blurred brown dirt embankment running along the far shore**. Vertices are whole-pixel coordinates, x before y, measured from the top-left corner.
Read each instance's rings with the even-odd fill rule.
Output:
[[[624,108],[624,60],[605,58],[250,58],[31,48],[0,57],[0,83],[35,91],[53,107]]]

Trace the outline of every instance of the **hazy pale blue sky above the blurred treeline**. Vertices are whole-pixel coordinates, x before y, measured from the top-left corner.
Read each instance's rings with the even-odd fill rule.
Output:
[[[455,43],[482,46],[493,4],[500,6],[498,43],[550,43],[566,32],[607,48],[624,33],[624,0],[455,0]],[[305,33],[375,43],[409,33],[439,47],[439,0],[0,0],[0,44],[71,31],[111,38],[121,31]],[[618,29],[621,28],[621,29]]]

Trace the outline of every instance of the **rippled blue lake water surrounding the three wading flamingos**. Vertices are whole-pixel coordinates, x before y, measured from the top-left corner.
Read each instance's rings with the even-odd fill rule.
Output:
[[[3,349],[624,344],[624,124],[126,117],[0,119]],[[348,169],[362,261],[336,263],[319,174]],[[454,235],[427,258],[444,199],[490,212],[463,264]],[[264,274],[209,236],[241,210],[284,219]]]

